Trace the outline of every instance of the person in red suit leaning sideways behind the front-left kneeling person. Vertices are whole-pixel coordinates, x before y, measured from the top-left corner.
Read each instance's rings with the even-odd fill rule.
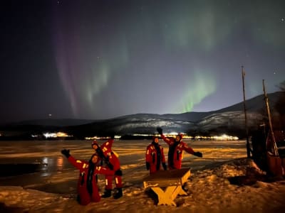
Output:
[[[118,199],[123,196],[123,184],[122,184],[122,170],[120,170],[120,161],[117,155],[112,151],[112,145],[114,143],[114,137],[105,141],[101,146],[98,145],[97,141],[92,142],[92,148],[95,149],[96,153],[103,159],[103,162],[110,168],[114,170],[114,175],[105,175],[105,192],[102,197],[110,197],[113,190],[113,179],[115,179],[115,194],[113,197]]]

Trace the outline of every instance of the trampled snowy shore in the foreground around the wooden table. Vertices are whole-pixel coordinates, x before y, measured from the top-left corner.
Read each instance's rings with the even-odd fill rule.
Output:
[[[138,172],[142,172],[138,170]],[[102,199],[83,207],[76,195],[59,195],[23,187],[0,186],[1,212],[283,212],[285,180],[261,182],[252,160],[239,158],[192,172],[186,182],[188,195],[177,197],[177,207],[157,206],[142,184],[125,182],[119,200]],[[247,177],[250,185],[231,184],[229,178]],[[99,184],[103,184],[102,182]],[[3,211],[4,210],[4,211]]]

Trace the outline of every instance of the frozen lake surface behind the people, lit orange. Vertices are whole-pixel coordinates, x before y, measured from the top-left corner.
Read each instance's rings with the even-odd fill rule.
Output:
[[[184,153],[182,168],[191,168],[192,171],[207,168],[214,163],[247,157],[245,141],[184,141],[194,151],[203,153],[203,158]],[[103,142],[98,141],[100,144]],[[113,151],[119,155],[123,179],[138,182],[148,174],[145,170],[145,150],[150,142],[148,140],[114,142]],[[165,148],[167,160],[168,146],[161,140],[160,144]],[[70,149],[71,155],[77,159],[88,160],[93,154],[91,141],[0,141],[0,163],[47,163],[46,168],[38,173],[0,177],[0,185],[18,185],[58,193],[74,190],[70,186],[76,185],[77,170],[61,154],[63,148]],[[133,175],[134,171],[140,171],[141,174]],[[49,182],[61,180],[66,182],[64,186],[48,187]]]

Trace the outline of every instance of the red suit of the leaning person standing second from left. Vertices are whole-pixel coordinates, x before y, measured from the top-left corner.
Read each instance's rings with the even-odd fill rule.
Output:
[[[120,161],[119,161],[119,158],[115,155],[115,153],[113,153],[111,149],[113,143],[114,143],[114,139],[108,139],[108,141],[106,141],[100,146],[100,149],[101,151],[103,151],[105,158],[107,158],[110,164],[113,165],[113,170],[117,171],[117,170],[120,170]],[[105,181],[106,181],[105,189],[106,190],[112,190],[113,178],[115,178],[115,186],[117,188],[123,187],[121,175],[105,175]]]

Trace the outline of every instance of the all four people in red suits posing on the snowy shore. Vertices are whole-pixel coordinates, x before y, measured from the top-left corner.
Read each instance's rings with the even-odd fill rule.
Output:
[[[176,138],[167,138],[163,135],[160,127],[157,128],[157,131],[160,133],[163,141],[169,146],[167,160],[168,170],[181,168],[183,151],[202,158],[202,153],[193,151],[192,148],[182,141],[182,134],[179,133]],[[150,174],[156,173],[157,170],[161,170],[161,167],[164,170],[167,170],[163,148],[158,141],[158,137],[154,136],[152,143],[147,146],[147,151],[145,153],[146,167],[147,170],[150,170]],[[113,180],[115,180],[115,192],[113,193],[113,198],[118,199],[123,196],[123,173],[122,170],[120,170],[118,155],[112,151],[113,142],[114,136],[111,136],[108,141],[105,141],[101,146],[97,141],[93,141],[91,146],[95,153],[91,155],[89,161],[76,160],[67,149],[61,151],[68,161],[79,170],[77,200],[80,204],[86,205],[90,202],[99,202],[101,197],[111,197]],[[98,174],[105,175],[105,191],[102,196],[99,194],[97,185]]]

